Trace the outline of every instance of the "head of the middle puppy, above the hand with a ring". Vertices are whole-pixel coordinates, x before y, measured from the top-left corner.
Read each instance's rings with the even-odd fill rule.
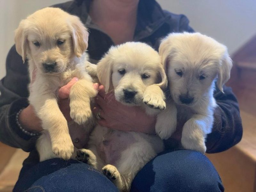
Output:
[[[116,100],[141,105],[147,86],[167,86],[167,78],[158,53],[149,45],[128,42],[111,47],[97,65],[97,74],[105,91],[114,89]]]

